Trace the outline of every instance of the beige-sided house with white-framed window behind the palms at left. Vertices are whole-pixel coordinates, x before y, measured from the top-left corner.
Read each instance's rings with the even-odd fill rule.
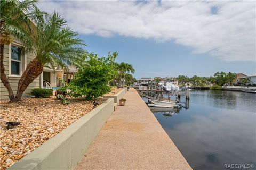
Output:
[[[14,95],[17,92],[18,82],[27,65],[36,56],[33,53],[21,53],[21,41],[12,38],[13,41],[9,45],[4,45],[4,68],[5,74],[9,79]],[[46,64],[41,75],[36,78],[28,88],[24,91],[23,97],[30,96],[31,89],[43,88],[46,84],[51,87],[62,86],[62,82],[68,77],[60,67],[53,67]],[[0,81],[0,100],[9,99],[8,91],[2,81]]]

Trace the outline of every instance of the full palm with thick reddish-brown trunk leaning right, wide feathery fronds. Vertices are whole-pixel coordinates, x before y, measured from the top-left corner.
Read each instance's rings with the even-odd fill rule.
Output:
[[[83,41],[76,38],[78,34],[66,26],[66,20],[61,18],[57,12],[47,14],[35,7],[34,14],[30,16],[30,20],[36,27],[31,28],[29,25],[28,29],[24,29],[23,36],[26,41],[20,40],[24,43],[25,49],[34,52],[36,57],[29,62],[23,72],[15,98],[14,96],[10,97],[9,93],[11,101],[21,100],[23,92],[43,72],[43,66],[46,63],[50,63],[53,67],[58,65],[65,67],[67,62],[79,63],[79,58],[85,53],[82,48],[85,46]],[[26,27],[27,25],[25,25]]]

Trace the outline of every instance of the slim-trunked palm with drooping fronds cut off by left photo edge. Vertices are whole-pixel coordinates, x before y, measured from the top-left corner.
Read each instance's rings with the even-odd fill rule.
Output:
[[[10,35],[27,42],[26,36],[30,31],[29,17],[33,16],[33,9],[36,8],[36,0],[5,0],[0,1],[0,79],[8,90],[9,98],[14,100],[14,94],[4,69],[4,45],[9,45],[12,41]],[[32,11],[32,12],[31,12]],[[26,13],[26,14],[25,14]]]

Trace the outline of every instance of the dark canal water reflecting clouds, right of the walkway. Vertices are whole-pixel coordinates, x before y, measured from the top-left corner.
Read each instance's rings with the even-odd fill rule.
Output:
[[[193,169],[256,169],[256,94],[191,90],[188,107],[153,113]]]

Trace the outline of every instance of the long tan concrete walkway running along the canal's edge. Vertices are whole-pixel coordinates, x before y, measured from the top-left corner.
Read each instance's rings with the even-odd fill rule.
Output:
[[[124,98],[77,169],[191,169],[138,92]]]

